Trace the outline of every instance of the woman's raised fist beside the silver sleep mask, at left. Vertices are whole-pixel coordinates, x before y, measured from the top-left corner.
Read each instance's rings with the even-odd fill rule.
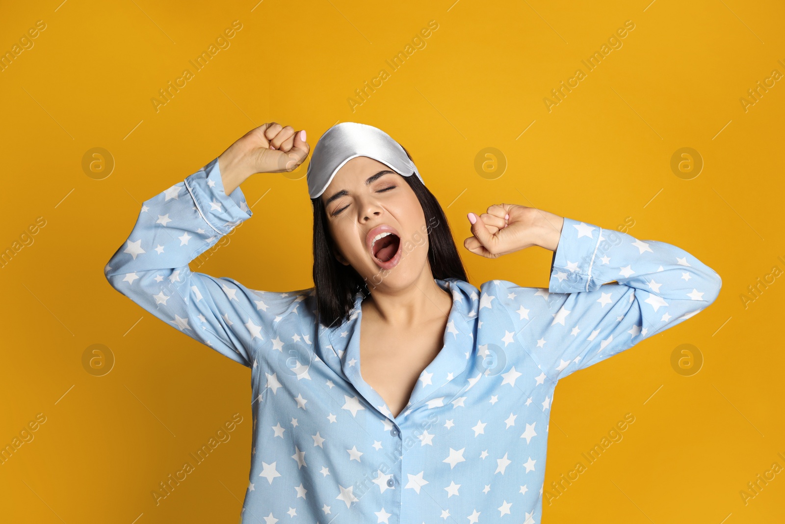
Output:
[[[272,122],[240,137],[218,157],[226,194],[254,173],[283,173],[297,169],[311,151],[304,135],[305,130],[295,133],[292,126]]]

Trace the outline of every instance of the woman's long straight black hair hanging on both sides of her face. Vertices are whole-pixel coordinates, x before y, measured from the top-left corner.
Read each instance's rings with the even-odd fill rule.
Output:
[[[403,148],[403,146],[401,146]],[[411,155],[403,148],[409,159]],[[412,160],[414,161],[414,160]],[[469,280],[461,256],[455,247],[450,225],[436,196],[412,174],[401,177],[407,182],[422,206],[428,226],[428,261],[433,277],[440,280]],[[327,227],[327,210],[321,197],[313,204],[313,284],[319,323],[325,327],[343,324],[349,319],[358,291],[370,294],[368,284],[352,266],[344,266],[335,258],[334,240]],[[400,239],[403,242],[403,239]]]

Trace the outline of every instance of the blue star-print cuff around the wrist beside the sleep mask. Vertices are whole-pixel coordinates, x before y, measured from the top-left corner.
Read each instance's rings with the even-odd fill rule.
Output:
[[[224,192],[224,181],[217,158],[185,178],[184,183],[199,214],[221,235],[229,233],[236,225],[254,215],[239,186],[231,195]]]

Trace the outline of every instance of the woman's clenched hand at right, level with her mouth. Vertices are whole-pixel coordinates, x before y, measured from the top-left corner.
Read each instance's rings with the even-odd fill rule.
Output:
[[[487,213],[469,214],[476,217],[472,236],[464,247],[476,255],[498,258],[531,246],[556,251],[564,218],[536,207],[500,203],[488,207]]]

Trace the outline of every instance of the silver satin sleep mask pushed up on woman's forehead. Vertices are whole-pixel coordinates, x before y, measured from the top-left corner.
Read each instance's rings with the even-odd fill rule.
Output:
[[[338,170],[356,156],[378,160],[403,177],[416,174],[422,181],[417,166],[389,134],[364,123],[341,122],[325,131],[313,148],[306,173],[309,196],[318,198]]]

